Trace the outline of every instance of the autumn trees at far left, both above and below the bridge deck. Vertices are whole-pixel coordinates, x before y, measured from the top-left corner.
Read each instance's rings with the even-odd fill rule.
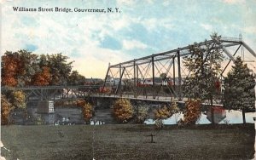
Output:
[[[6,51],[2,55],[1,80],[4,87],[82,85],[85,77],[72,71],[73,61],[62,54],[33,54],[26,50]],[[1,124],[9,123],[14,109],[26,112],[26,94],[22,90],[1,92]]]

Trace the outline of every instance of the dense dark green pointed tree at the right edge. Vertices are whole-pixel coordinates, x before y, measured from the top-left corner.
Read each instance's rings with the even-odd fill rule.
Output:
[[[224,107],[241,110],[243,123],[246,123],[245,112],[255,106],[255,77],[241,57],[237,57],[234,64],[224,78]]]

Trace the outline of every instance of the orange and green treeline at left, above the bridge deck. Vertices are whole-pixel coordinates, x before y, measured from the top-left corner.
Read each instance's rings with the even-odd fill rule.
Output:
[[[85,77],[72,71],[73,61],[62,54],[6,51],[2,56],[2,86],[80,85]]]

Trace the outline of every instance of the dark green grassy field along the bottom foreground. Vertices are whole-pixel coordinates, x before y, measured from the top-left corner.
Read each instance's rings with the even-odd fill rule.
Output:
[[[7,159],[252,159],[254,124],[2,126]],[[154,143],[151,137],[154,134]]]

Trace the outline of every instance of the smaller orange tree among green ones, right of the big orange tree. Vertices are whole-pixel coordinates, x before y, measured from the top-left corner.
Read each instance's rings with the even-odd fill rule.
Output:
[[[44,66],[41,72],[36,73],[33,78],[33,84],[36,86],[46,86],[49,85],[51,81],[51,75],[49,72],[49,67]]]

